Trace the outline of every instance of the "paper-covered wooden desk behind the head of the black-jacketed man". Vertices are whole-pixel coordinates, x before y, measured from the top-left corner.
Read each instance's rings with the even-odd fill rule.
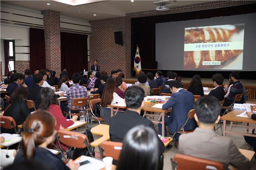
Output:
[[[141,107],[141,111],[144,111],[143,117],[145,116],[153,116],[151,114],[147,114],[147,111],[151,111],[151,112],[156,112],[156,113],[160,113],[160,115],[154,115],[156,117],[158,117],[157,121],[155,120],[151,120],[153,123],[156,124],[162,124],[162,135],[164,135],[164,129],[165,129],[165,125],[164,125],[164,115],[167,112],[170,112],[172,109],[168,109],[168,110],[162,110],[162,108],[155,108],[152,107],[153,105],[155,105],[156,103],[145,103],[144,107]],[[111,109],[111,117],[114,116],[114,108],[118,109],[126,109],[126,106],[118,106],[118,105],[108,105],[108,107],[110,107]],[[116,112],[117,112],[116,111]],[[162,118],[162,121],[160,121],[160,119]]]

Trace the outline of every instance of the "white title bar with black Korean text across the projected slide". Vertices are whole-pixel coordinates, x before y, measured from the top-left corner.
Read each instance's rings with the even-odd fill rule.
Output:
[[[243,50],[243,41],[184,44],[184,52],[214,50]]]

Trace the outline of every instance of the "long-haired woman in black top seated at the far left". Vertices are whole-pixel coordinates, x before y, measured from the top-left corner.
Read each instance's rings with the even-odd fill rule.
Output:
[[[10,105],[4,112],[4,116],[10,116],[15,120],[16,125],[22,124],[28,115],[30,110],[27,107],[28,90],[25,87],[18,87],[14,90]],[[15,133],[14,129],[1,128],[2,133]]]

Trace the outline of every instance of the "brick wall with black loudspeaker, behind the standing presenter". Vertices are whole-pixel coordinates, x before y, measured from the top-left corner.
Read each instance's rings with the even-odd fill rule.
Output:
[[[98,60],[101,70],[110,74],[112,70],[121,69],[126,78],[131,75],[131,19],[118,17],[90,21],[90,61]],[[123,46],[115,44],[114,32],[121,31]]]

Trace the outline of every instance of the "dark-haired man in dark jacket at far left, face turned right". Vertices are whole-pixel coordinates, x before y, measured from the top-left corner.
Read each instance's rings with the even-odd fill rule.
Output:
[[[14,73],[11,75],[11,79],[13,78],[13,82],[7,86],[6,91],[8,92],[8,96],[12,96],[14,90],[17,87],[23,86],[27,87],[27,85],[24,83],[25,76],[21,73]]]

